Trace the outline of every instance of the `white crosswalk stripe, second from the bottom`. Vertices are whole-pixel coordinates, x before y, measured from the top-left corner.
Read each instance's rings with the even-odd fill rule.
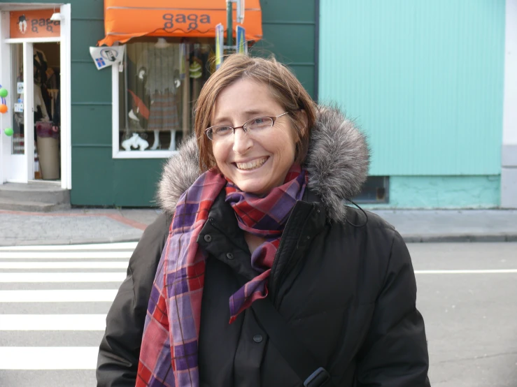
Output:
[[[1,314],[1,330],[105,330],[106,314]]]

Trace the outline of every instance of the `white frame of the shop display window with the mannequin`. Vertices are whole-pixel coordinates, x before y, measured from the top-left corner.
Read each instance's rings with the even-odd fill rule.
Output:
[[[118,66],[111,66],[111,125],[112,125],[112,149],[113,159],[168,159],[173,154],[178,153],[177,150],[121,150],[120,143],[120,126],[119,126],[119,101],[118,101]]]

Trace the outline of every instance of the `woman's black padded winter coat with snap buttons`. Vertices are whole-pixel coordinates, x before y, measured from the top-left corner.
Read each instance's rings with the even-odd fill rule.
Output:
[[[176,177],[167,169],[165,175]],[[271,268],[274,306],[335,386],[430,386],[416,282],[401,236],[375,214],[367,213],[366,219],[350,207],[339,208],[346,220],[335,219],[336,208],[318,183],[309,187],[290,214]],[[171,216],[162,214],[129,261],[128,277],[106,319],[98,386],[134,386],[148,298],[170,222]],[[242,277],[257,273],[224,193],[215,200],[198,243],[208,252],[199,333],[201,386],[302,386],[253,309],[228,323],[230,295]]]

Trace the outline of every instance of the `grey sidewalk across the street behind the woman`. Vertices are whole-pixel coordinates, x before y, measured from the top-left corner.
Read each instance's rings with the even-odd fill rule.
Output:
[[[517,242],[517,210],[373,210],[406,242]],[[156,209],[0,210],[0,246],[132,242]]]

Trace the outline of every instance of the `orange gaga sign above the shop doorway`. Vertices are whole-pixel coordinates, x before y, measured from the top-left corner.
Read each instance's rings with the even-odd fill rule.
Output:
[[[52,9],[16,10],[9,13],[10,38],[59,38],[61,22],[50,20]]]

